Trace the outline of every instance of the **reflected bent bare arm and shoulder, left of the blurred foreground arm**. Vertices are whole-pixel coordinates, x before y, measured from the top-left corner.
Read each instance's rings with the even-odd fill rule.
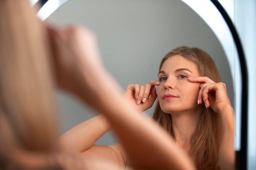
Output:
[[[81,153],[84,157],[93,156],[106,159],[117,164],[117,166],[125,167],[127,156],[120,144],[110,146],[94,145],[110,128],[111,126],[106,117],[98,115],[65,132],[59,138],[59,142],[64,149]]]

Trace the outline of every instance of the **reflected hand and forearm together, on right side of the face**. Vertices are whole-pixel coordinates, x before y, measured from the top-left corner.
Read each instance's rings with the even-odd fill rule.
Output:
[[[226,85],[222,82],[213,82],[209,77],[193,77],[189,82],[198,82],[200,91],[198,104],[204,102],[215,113],[219,113],[222,124],[222,135],[219,146],[218,164],[222,170],[234,170],[234,110],[227,95]]]

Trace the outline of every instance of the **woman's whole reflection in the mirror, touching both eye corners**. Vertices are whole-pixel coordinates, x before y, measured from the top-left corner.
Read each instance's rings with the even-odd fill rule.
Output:
[[[144,111],[158,96],[153,119],[190,155],[198,170],[234,169],[234,110],[212,58],[198,48],[178,47],[164,56],[158,77],[159,82],[152,80],[145,86],[130,84],[124,98]],[[79,132],[87,129],[92,130],[90,136],[81,137]],[[83,155],[107,156],[124,166],[134,166],[121,144],[93,145],[109,129],[99,115],[66,132],[60,141]],[[85,144],[85,139],[90,142]]]

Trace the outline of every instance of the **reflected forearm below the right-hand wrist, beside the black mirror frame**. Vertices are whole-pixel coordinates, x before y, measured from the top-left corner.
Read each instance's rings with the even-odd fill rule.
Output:
[[[221,170],[235,169],[234,150],[234,110],[227,106],[220,110],[222,121],[222,138],[219,148],[219,164]]]

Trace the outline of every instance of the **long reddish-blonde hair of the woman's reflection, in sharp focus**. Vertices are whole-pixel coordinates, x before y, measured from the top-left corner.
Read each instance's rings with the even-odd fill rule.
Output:
[[[199,48],[189,48],[181,46],[167,53],[159,66],[159,71],[164,62],[174,55],[181,55],[194,62],[198,67],[201,76],[207,76],[214,82],[220,82],[218,68],[211,56]],[[213,170],[218,163],[218,148],[221,138],[221,120],[218,113],[214,113],[211,108],[205,108],[204,104],[198,106],[198,126],[191,137],[191,150],[189,155],[195,162],[198,170]],[[172,117],[164,113],[157,101],[153,114],[159,124],[161,124],[172,136]]]

